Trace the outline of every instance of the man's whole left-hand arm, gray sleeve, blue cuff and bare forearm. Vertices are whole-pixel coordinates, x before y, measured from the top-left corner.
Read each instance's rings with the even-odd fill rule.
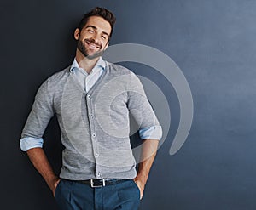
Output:
[[[49,120],[54,116],[52,97],[49,93],[48,81],[44,82],[38,89],[26,124],[21,133],[20,148],[26,151],[32,164],[38,170],[50,190],[55,194],[55,187],[60,179],[53,172],[52,167],[42,149],[44,140],[42,136]]]

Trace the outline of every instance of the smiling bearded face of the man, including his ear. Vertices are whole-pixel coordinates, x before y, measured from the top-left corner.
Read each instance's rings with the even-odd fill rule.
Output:
[[[77,48],[84,57],[94,59],[103,54],[108,48],[111,26],[102,17],[91,16],[86,25],[79,31],[76,29],[74,37],[78,40]]]

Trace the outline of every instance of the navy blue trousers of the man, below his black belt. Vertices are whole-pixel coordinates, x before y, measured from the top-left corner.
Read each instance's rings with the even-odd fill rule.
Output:
[[[133,180],[125,180],[100,188],[63,180],[55,190],[60,210],[137,210],[140,191]]]

